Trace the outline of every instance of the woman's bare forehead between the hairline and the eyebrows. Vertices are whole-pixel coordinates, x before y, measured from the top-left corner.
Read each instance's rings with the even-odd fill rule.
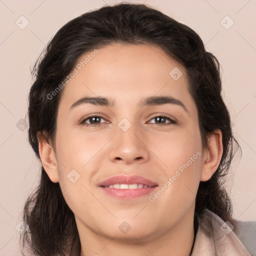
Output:
[[[157,46],[107,45],[82,54],[74,69],[61,97],[69,107],[82,96],[95,95],[111,98],[115,105],[138,104],[143,97],[157,94],[191,101],[185,68]]]

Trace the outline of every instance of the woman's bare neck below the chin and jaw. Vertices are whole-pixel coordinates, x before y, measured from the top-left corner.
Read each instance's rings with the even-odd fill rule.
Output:
[[[81,253],[80,256],[148,256],[172,255],[189,256],[192,251],[194,236],[193,214],[184,216],[175,226],[169,228],[153,239],[130,235],[126,240],[117,236],[98,235],[83,225],[78,228]],[[80,223],[81,224],[81,223]],[[78,225],[77,225],[78,226]],[[82,229],[82,230],[81,230]]]

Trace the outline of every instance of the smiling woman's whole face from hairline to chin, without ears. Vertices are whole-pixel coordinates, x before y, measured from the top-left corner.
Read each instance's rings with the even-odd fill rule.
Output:
[[[193,217],[203,155],[197,109],[184,67],[160,48],[97,50],[79,58],[63,89],[57,180],[79,233],[142,242]]]

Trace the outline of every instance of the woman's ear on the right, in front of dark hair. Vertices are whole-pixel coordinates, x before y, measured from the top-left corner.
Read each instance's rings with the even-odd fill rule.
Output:
[[[206,181],[210,179],[212,174],[218,168],[222,153],[222,133],[220,129],[216,129],[210,133],[208,138],[208,145],[203,151],[200,181]]]

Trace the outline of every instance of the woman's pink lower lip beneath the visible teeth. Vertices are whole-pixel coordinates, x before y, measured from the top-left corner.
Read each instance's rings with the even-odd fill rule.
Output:
[[[103,187],[100,188],[107,194],[120,199],[133,199],[151,193],[157,186],[136,189],[118,189]]]

